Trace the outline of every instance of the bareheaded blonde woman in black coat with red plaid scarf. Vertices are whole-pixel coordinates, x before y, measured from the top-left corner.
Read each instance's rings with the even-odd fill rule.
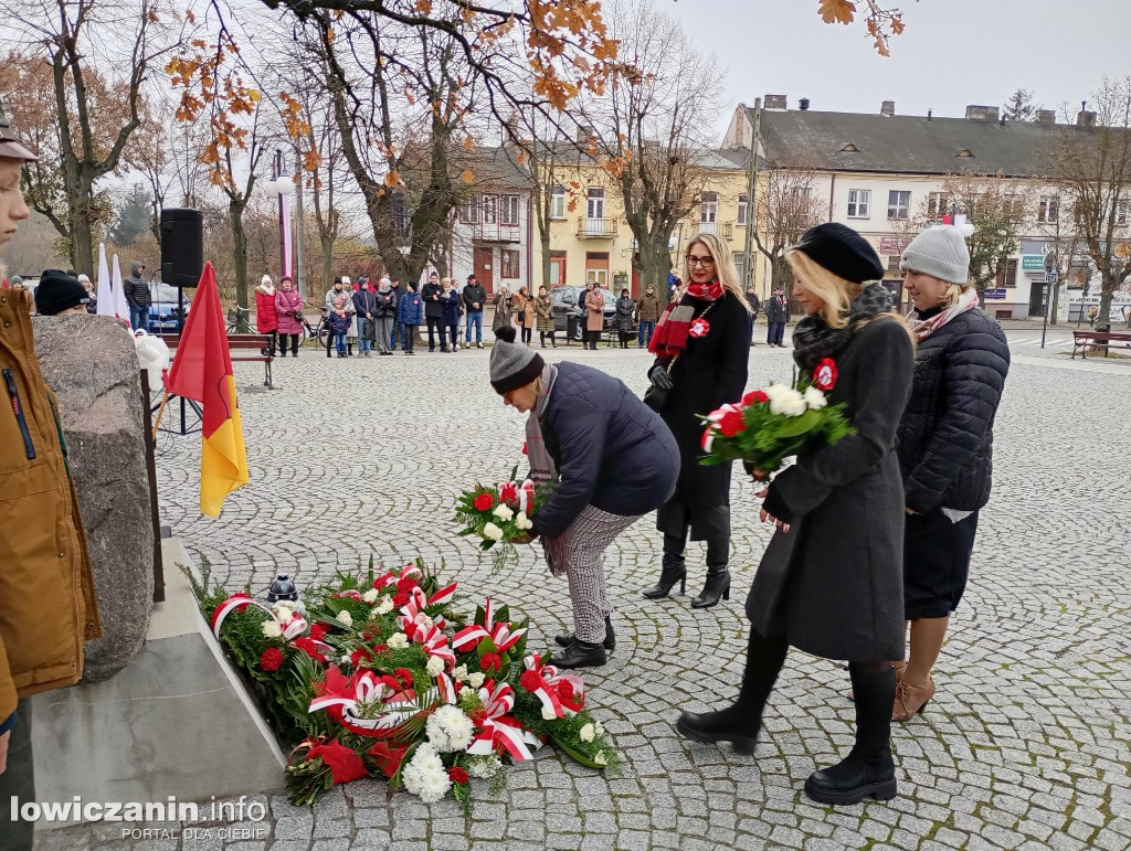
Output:
[[[685,589],[690,531],[691,540],[707,541],[707,581],[691,606],[707,608],[729,599],[731,464],[699,463],[703,424],[697,415],[742,397],[750,307],[731,250],[715,234],[699,234],[688,245],[684,276],[688,289],[665,309],[649,347],[656,355],[649,377],[661,392],[667,388],[659,414],[680,444],[681,463],[675,493],[656,514],[664,535],[659,581],[644,596],[666,597],[676,582]]]

